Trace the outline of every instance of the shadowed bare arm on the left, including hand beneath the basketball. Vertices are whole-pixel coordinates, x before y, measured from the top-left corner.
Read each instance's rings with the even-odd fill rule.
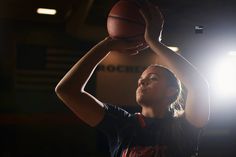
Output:
[[[111,50],[125,51],[134,43],[106,38],[84,55],[61,79],[55,88],[58,97],[81,120],[90,126],[96,126],[104,117],[104,105],[84,88],[97,65]]]

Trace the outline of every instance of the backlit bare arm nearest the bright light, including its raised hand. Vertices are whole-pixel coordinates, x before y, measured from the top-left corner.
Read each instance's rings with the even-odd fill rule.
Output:
[[[196,127],[203,127],[208,122],[210,108],[207,81],[183,56],[171,51],[159,42],[163,27],[160,11],[146,2],[141,14],[146,21],[146,42],[163,61],[163,65],[173,71],[187,88],[186,119]]]

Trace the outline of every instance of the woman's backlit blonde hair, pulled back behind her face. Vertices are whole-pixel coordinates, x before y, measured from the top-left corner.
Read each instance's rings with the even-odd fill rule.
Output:
[[[175,76],[175,74],[168,68],[159,65],[153,64],[150,67],[157,67],[163,70],[163,74],[167,79],[168,86],[174,87],[177,89],[175,95],[170,98],[169,111],[172,113],[173,117],[179,117],[184,113],[184,99],[183,99],[183,89],[180,80]]]

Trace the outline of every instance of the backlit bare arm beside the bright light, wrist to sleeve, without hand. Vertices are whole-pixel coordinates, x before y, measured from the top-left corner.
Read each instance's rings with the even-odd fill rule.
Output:
[[[204,126],[210,112],[209,87],[205,78],[183,56],[165,45],[159,42],[150,42],[149,45],[162,60],[162,64],[173,71],[187,88],[186,118],[197,127]]]

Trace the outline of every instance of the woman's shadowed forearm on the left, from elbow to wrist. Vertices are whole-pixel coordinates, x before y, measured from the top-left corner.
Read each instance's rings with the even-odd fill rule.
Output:
[[[105,39],[106,40],[106,39]],[[83,91],[96,66],[109,53],[102,42],[94,46],[85,54],[62,78],[56,87],[56,91]]]

